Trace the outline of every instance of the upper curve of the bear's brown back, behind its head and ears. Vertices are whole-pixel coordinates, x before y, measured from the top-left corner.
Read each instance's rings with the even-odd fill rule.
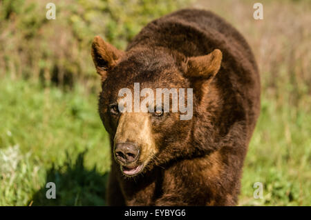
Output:
[[[186,57],[205,55],[218,48],[236,60],[247,57],[249,65],[257,71],[245,38],[227,21],[207,10],[178,10],[152,21],[129,43],[127,50],[136,46],[160,46]]]

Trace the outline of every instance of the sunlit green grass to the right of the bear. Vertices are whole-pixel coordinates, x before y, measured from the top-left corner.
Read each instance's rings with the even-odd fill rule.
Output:
[[[311,114],[262,100],[244,166],[241,205],[311,206]],[[254,199],[255,182],[263,199]]]

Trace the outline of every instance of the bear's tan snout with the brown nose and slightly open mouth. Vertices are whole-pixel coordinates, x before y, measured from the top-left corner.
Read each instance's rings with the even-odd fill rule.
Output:
[[[158,152],[149,113],[122,113],[113,143],[113,157],[126,177],[143,172]]]

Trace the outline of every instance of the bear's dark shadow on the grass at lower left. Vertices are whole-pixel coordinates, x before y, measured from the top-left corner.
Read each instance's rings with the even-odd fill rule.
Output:
[[[47,199],[49,188],[44,186],[33,194],[28,204],[32,206],[105,206],[106,183],[108,173],[100,174],[96,167],[88,170],[84,167],[86,152],[71,161],[68,154],[64,166],[48,170],[46,183],[56,186],[56,199]]]

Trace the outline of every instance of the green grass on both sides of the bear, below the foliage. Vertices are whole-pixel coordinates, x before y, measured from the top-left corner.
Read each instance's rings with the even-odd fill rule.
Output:
[[[104,205],[110,155],[96,94],[4,78],[0,100],[0,205]],[[310,112],[263,98],[240,205],[311,205],[310,130]],[[46,199],[49,181],[57,199]]]

